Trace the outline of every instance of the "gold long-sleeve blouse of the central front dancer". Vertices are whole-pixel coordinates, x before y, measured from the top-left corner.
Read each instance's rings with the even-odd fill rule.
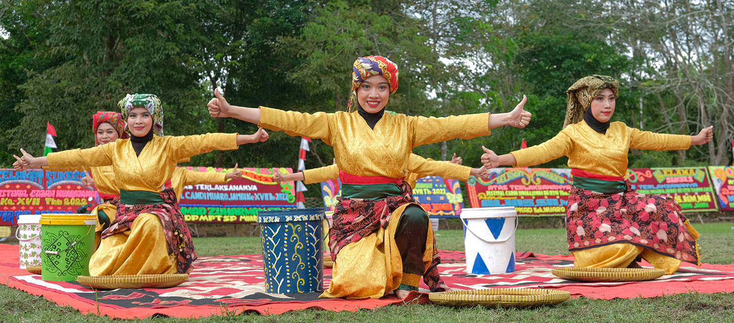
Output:
[[[361,176],[401,178],[414,147],[490,134],[488,113],[439,118],[385,113],[373,130],[356,112],[311,115],[264,106],[260,109],[258,126],[291,136],[321,139],[334,148],[341,170]]]

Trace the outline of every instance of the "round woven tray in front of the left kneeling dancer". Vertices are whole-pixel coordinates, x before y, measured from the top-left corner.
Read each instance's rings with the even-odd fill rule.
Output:
[[[115,288],[168,288],[189,279],[189,274],[79,276],[81,285],[97,289]]]

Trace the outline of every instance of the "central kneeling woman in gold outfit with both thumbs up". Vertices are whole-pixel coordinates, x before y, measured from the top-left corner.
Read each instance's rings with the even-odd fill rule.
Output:
[[[216,90],[216,98],[209,101],[212,117],[236,117],[291,136],[319,138],[334,148],[342,197],[330,229],[332,280],[321,297],[379,298],[394,290],[404,298],[418,288],[421,276],[432,290],[444,290],[428,217],[404,181],[410,150],[486,136],[498,126],[523,127],[531,117],[523,111],[525,99],[512,112],[496,115],[384,113],[397,88],[397,66],[385,57],[370,56],[358,58],[353,66],[350,112],[311,115],[231,106]]]

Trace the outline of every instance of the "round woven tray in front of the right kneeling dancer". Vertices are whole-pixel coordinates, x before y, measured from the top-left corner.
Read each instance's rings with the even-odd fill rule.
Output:
[[[665,270],[655,268],[580,268],[564,267],[551,270],[553,275],[567,280],[588,282],[620,282],[653,280],[665,275]]]

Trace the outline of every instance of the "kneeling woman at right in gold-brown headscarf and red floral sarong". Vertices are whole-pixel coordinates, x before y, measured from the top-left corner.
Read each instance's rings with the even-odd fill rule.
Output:
[[[672,274],[680,261],[698,263],[698,233],[678,203],[658,194],[640,194],[624,181],[630,148],[688,149],[710,142],[711,127],[696,136],[655,134],[610,122],[619,83],[609,76],[586,76],[567,91],[564,129],[540,145],[497,156],[487,151],[487,167],[530,167],[568,156],[573,188],[568,197],[566,233],[575,266],[638,267],[642,256]]]

